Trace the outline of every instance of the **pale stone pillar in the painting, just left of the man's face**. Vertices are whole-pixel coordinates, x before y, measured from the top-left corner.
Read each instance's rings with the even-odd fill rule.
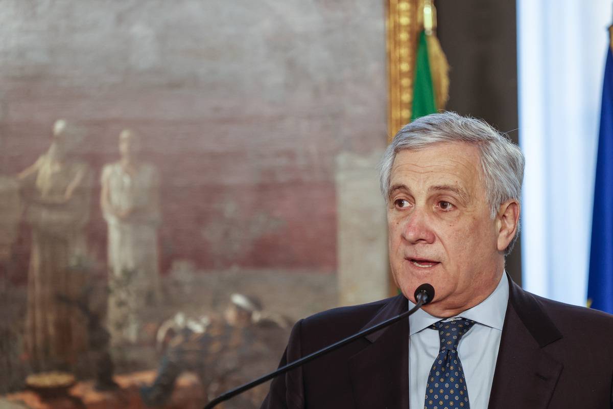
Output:
[[[377,164],[383,151],[337,156],[338,289],[340,305],[387,297],[386,207]]]

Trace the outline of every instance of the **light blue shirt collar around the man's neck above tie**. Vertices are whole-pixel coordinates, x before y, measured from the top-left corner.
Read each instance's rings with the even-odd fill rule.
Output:
[[[502,331],[508,302],[509,279],[506,277],[506,272],[503,272],[496,289],[481,304],[477,304],[473,308],[448,319],[459,318],[461,316],[462,318],[472,319],[476,323]],[[409,310],[413,307],[415,307],[415,304],[409,301]],[[430,315],[420,308],[413,315],[409,316],[410,335],[416,334],[438,321],[441,321],[441,318]]]

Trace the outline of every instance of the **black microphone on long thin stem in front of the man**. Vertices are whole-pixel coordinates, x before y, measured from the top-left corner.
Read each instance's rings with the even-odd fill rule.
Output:
[[[303,356],[297,361],[290,362],[289,364],[278,368],[274,372],[270,372],[267,375],[257,378],[254,381],[246,383],[242,386],[238,386],[238,388],[230,389],[230,391],[227,391],[226,393],[221,394],[220,396],[211,400],[211,402],[208,402],[208,404],[204,407],[204,409],[211,409],[215,407],[218,403],[224,402],[225,400],[228,400],[231,397],[237,396],[238,394],[241,394],[242,392],[245,392],[248,389],[254,388],[257,385],[264,383],[265,381],[271,380],[277,375],[281,375],[281,373],[286,373],[288,370],[291,370],[291,369],[294,369],[295,367],[299,367],[303,364],[306,364],[307,362],[312,361],[316,357],[319,357],[329,352],[332,352],[334,350],[337,350],[341,346],[346,345],[349,342],[357,340],[357,338],[365,337],[366,335],[379,331],[379,329],[383,329],[387,326],[397,323],[401,319],[406,318],[409,315],[416,312],[417,310],[419,310],[419,308],[421,308],[422,305],[426,305],[428,304],[428,302],[431,302],[434,299],[434,287],[430,284],[424,283],[421,286],[417,287],[414,293],[414,297],[415,297],[417,304],[415,304],[415,307],[411,308],[410,310],[403,312],[402,314],[392,317],[390,319],[386,319],[386,321],[383,321],[383,323],[376,324],[375,326],[367,328],[364,331],[360,331],[357,334],[351,335],[350,337],[347,337],[343,340],[335,342],[332,345],[328,345],[319,351],[315,351],[314,353],[308,354],[307,356]]]

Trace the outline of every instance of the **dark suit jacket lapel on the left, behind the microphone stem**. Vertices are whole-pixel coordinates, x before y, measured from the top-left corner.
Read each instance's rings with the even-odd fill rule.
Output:
[[[397,296],[362,329],[403,313],[408,303]],[[408,319],[368,335],[364,350],[349,359],[355,407],[359,409],[409,407]]]

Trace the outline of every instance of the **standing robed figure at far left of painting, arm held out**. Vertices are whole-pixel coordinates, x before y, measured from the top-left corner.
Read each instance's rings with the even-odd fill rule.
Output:
[[[35,370],[72,369],[86,350],[81,313],[61,301],[86,283],[83,269],[74,268],[86,257],[91,199],[91,170],[74,155],[83,136],[56,121],[50,148],[17,177],[32,229],[26,351]]]

